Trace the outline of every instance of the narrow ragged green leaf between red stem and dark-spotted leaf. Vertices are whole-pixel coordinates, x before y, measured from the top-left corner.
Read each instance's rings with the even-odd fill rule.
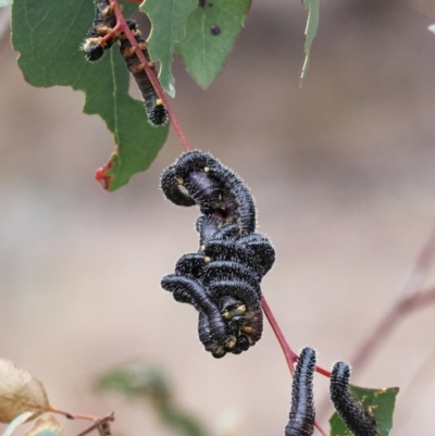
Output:
[[[198,0],[147,0],[139,8],[151,21],[148,51],[153,61],[160,61],[160,84],[171,97],[175,96],[174,46],[185,37],[186,20],[197,5]]]

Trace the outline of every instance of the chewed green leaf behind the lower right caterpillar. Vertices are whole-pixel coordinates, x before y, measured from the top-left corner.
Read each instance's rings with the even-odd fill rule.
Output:
[[[373,412],[380,436],[388,436],[393,427],[393,412],[396,406],[398,387],[385,389],[368,389],[350,385],[353,397],[362,403],[364,409]],[[352,436],[341,418],[335,412],[330,419],[331,436]]]

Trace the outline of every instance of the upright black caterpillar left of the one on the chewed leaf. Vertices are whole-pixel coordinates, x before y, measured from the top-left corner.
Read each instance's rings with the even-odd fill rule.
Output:
[[[314,432],[313,374],[315,351],[303,348],[291,384],[291,409],[285,436],[311,436]]]

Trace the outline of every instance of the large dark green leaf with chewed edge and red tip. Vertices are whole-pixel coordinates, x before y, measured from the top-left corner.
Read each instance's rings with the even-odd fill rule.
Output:
[[[135,10],[135,4],[124,5],[126,15]],[[18,65],[30,85],[83,90],[84,112],[104,120],[116,151],[98,175],[113,191],[151,164],[169,126],[149,125],[142,102],[128,95],[129,73],[116,47],[97,63],[85,60],[79,46],[92,20],[94,5],[88,0],[15,0],[12,43],[21,53]]]

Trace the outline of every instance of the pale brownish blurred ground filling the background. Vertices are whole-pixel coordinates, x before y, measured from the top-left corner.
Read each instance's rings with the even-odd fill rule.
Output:
[[[174,110],[191,145],[252,188],[277,252],[263,292],[291,346],[315,347],[328,368],[388,307],[435,224],[435,35],[397,1],[324,2],[300,90],[306,11],[289,3],[254,2],[207,92],[176,62]],[[58,407],[115,410],[124,436],[170,435],[149,408],[89,388],[136,357],[160,362],[211,426],[229,413],[243,436],[282,435],[290,377],[270,327],[249,352],[213,360],[194,310],[160,288],[198,239],[198,212],[159,190],[177,137],[109,195],[94,172],[112,138],[80,113],[84,96],[26,85],[10,49],[0,76],[1,356],[30,369]],[[353,382],[407,389],[435,346],[434,314],[400,324]],[[434,434],[434,378],[399,396],[394,435]],[[315,383],[320,401],[327,387]],[[79,428],[69,423],[67,435]]]

